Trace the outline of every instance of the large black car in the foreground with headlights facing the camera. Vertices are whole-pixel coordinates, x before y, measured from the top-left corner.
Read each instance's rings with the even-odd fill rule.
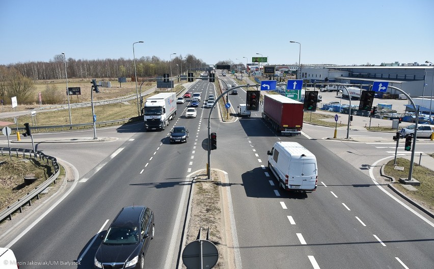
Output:
[[[106,232],[94,258],[95,268],[144,268],[154,237],[154,213],[146,206],[122,208]]]

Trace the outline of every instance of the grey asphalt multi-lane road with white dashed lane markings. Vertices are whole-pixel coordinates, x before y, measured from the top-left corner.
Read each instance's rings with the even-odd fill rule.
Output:
[[[233,83],[228,77],[220,78]],[[98,130],[99,136],[119,138],[114,142],[38,145],[39,150],[73,164],[80,178],[44,218],[28,223],[31,228],[18,237],[0,238],[1,245],[10,245],[23,268],[70,268],[60,266],[60,261],[79,261],[73,266],[90,268],[100,243],[98,231],[106,229],[123,206],[141,204],[155,213],[156,233],[145,267],[174,268],[191,174],[206,167],[203,141],[209,109],[203,107],[204,99],[208,94],[218,95],[204,80],[189,91],[202,93],[198,117],[184,117],[187,101],[178,104],[177,116],[170,123],[170,128],[189,129],[187,143],[170,144],[170,128],[146,132],[141,124],[134,124]],[[229,95],[235,111],[245,96],[241,89],[238,95]],[[238,239],[234,247],[239,250],[236,267],[432,267],[432,219],[371,178],[369,166],[390,154],[371,144],[321,140],[329,131],[305,124],[306,135],[279,137],[261,120],[260,112],[224,123],[219,111],[213,110],[211,132],[217,133],[218,149],[211,153],[211,168],[229,176],[235,215],[232,228],[236,227]],[[278,188],[266,169],[266,151],[276,141],[299,142],[316,155],[315,192],[290,194]],[[38,264],[44,261],[51,263]]]

